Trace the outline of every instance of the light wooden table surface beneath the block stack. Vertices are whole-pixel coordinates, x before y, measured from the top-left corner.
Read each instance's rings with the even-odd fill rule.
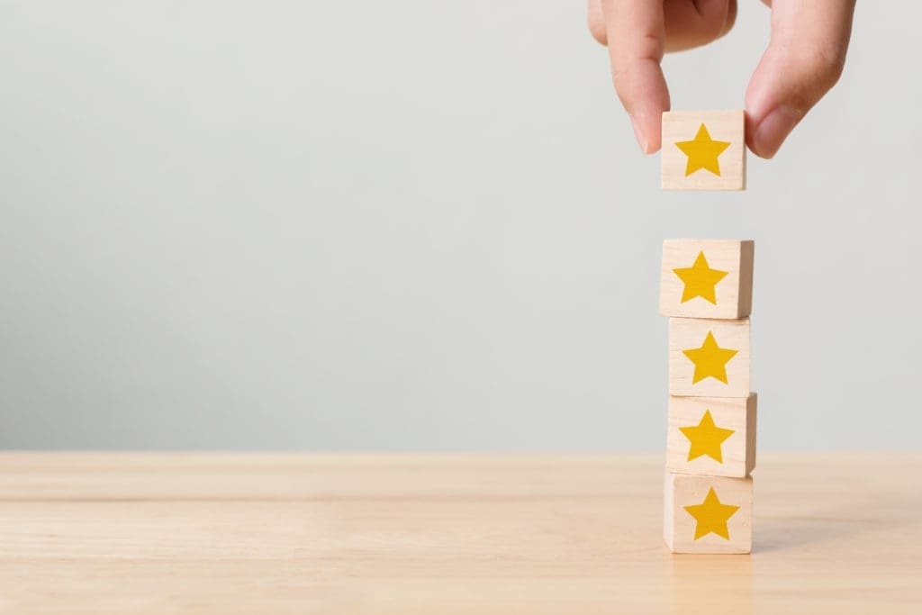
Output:
[[[0,454],[0,613],[920,613],[922,454],[766,454],[751,555],[661,455]]]

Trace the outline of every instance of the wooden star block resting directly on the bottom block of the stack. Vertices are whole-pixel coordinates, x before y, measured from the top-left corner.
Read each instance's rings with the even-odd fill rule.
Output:
[[[669,397],[666,468],[743,478],[755,467],[756,395]]]

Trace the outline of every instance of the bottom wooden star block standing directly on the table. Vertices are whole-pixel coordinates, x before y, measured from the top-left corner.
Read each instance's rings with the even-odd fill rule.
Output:
[[[752,479],[666,474],[663,538],[673,553],[749,553]]]

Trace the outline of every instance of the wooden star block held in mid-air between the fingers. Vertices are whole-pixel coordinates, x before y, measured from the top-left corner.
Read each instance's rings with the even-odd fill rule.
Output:
[[[663,190],[745,190],[742,110],[663,113]]]

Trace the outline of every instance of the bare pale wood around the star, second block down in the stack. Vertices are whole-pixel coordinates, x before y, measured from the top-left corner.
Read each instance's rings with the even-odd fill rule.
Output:
[[[727,382],[708,376],[695,382],[699,369],[686,350],[703,347],[708,334],[720,349],[737,353],[723,367]],[[748,397],[750,394],[751,333],[749,318],[703,320],[669,318],[669,395],[692,397]]]

